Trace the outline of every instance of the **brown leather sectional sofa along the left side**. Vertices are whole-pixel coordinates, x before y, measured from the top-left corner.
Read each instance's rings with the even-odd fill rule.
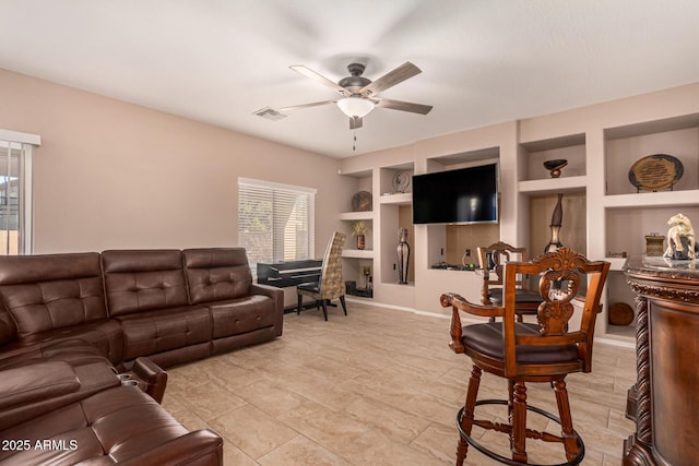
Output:
[[[242,248],[0,258],[0,464],[210,465],[163,368],[282,335]]]

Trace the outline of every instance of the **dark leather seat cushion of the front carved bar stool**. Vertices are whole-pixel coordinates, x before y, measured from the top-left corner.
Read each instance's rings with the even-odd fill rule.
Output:
[[[540,335],[540,326],[537,324],[517,322],[514,328],[518,335]],[[505,358],[502,322],[465,325],[462,327],[461,342],[464,347],[473,348],[491,358],[500,361]],[[578,347],[576,345],[517,347],[517,362],[522,363],[545,365],[577,361],[578,359]]]

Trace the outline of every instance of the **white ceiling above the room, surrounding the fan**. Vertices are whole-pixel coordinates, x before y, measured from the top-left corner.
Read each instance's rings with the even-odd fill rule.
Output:
[[[697,0],[0,0],[0,68],[346,157],[469,128],[699,82]],[[354,131],[337,81],[422,74]]]

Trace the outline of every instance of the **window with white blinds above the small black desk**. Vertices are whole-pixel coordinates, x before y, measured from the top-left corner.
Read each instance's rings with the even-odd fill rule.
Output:
[[[313,259],[316,190],[238,178],[238,242],[258,262]]]

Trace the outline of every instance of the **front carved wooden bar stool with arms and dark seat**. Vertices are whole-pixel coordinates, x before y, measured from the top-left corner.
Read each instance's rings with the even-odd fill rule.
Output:
[[[601,310],[600,297],[608,271],[608,262],[591,262],[582,254],[561,248],[531,262],[508,262],[505,265],[503,306],[473,304],[455,294],[441,296],[441,304],[452,308],[449,346],[454,353],[464,354],[473,361],[466,401],[458,415],[458,466],[463,465],[469,445],[503,464],[531,465],[528,463],[528,439],[562,443],[567,462],[561,465],[577,465],[582,461],[584,444],[573,430],[565,379],[571,372],[592,370],[594,324]],[[538,324],[516,320],[518,276],[526,275],[540,279],[542,302],[537,310]],[[501,321],[462,326],[461,311],[501,318]],[[574,312],[581,312],[580,326],[569,330],[569,321]],[[507,379],[507,399],[476,401],[484,371]],[[528,382],[550,384],[559,418],[526,404]],[[489,404],[507,405],[509,423],[475,417],[476,406]],[[559,423],[560,434],[528,428],[528,411]],[[474,426],[507,434],[511,458],[476,442],[471,435]]]

